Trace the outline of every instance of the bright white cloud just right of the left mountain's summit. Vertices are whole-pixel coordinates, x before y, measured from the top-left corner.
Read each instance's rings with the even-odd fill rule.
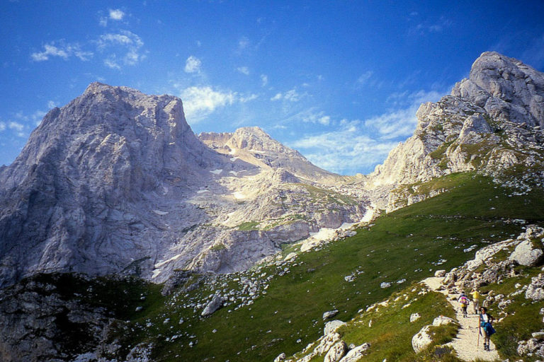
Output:
[[[246,103],[257,98],[257,95],[242,96],[233,91],[214,90],[210,86],[193,86],[183,89],[180,97],[188,122],[196,123],[208,117],[217,108],[234,103]]]

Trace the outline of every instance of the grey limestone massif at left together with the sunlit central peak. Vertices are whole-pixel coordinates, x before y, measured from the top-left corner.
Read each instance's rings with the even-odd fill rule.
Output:
[[[362,218],[357,198],[320,188],[340,176],[260,129],[225,136],[201,136],[217,152],[179,98],[101,83],[51,110],[0,170],[0,286],[53,271],[242,270]]]

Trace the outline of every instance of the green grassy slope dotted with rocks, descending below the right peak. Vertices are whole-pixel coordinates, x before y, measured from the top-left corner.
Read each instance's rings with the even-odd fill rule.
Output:
[[[509,219],[536,223],[544,219],[540,190],[519,195],[470,173],[445,180],[455,185],[450,192],[380,216],[375,225],[358,230],[352,238],[302,253],[290,272],[274,277],[266,296],[253,305],[238,310],[229,306],[201,318],[200,310],[181,308],[184,296],[164,298],[164,304],[155,303],[132,316],[135,332],[126,343],[153,342],[156,361],[264,361],[281,352],[290,355],[319,337],[325,311],[337,309],[335,318],[350,320],[360,308],[410,282],[472,258],[474,252],[464,249],[517,235],[521,225]],[[245,275],[258,278],[278,269],[264,267]],[[348,283],[344,276],[351,274],[355,280]],[[225,279],[227,288],[234,285],[229,278],[236,277]],[[406,281],[397,284],[402,279]],[[380,288],[382,282],[392,286]],[[188,297],[209,293],[200,288]],[[171,341],[172,336],[178,337]]]

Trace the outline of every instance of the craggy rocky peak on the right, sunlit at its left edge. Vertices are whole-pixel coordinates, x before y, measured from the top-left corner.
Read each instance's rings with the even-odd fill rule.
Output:
[[[477,170],[502,177],[543,170],[544,74],[483,53],[451,95],[425,103],[414,135],[393,149],[365,187],[396,187]],[[540,176],[539,176],[540,175]]]

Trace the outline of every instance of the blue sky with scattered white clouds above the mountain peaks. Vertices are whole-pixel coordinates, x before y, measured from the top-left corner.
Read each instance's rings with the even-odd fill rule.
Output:
[[[543,1],[1,1],[0,165],[93,81],[370,173],[487,50],[544,70]]]

